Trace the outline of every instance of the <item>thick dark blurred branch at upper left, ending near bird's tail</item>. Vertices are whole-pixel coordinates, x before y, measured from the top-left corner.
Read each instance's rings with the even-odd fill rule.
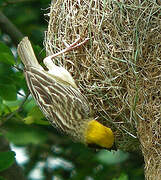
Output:
[[[23,34],[17,29],[17,27],[0,11],[0,29],[8,34],[13,42],[18,45],[23,38]]]

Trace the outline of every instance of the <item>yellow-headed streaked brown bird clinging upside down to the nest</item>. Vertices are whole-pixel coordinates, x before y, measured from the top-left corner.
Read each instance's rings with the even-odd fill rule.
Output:
[[[91,107],[85,95],[77,87],[72,75],[62,66],[55,65],[53,59],[86,43],[66,45],[60,52],[47,56],[41,66],[34,54],[28,37],[18,44],[17,52],[24,64],[27,86],[47,120],[74,141],[89,147],[111,150],[114,133],[92,117]]]

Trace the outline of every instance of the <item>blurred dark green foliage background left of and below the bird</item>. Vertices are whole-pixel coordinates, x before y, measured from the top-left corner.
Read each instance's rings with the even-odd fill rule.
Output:
[[[16,47],[23,36],[28,36],[42,61],[49,5],[49,0],[0,1],[0,180],[20,177],[17,169],[14,177],[10,171],[15,158],[24,179],[143,180],[140,154],[97,151],[73,143],[44,121],[29,95]],[[17,28],[16,38],[8,22]]]

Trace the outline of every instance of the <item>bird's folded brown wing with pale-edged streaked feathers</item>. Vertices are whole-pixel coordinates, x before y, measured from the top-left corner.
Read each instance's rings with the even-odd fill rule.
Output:
[[[81,123],[78,121],[89,118],[87,99],[79,89],[35,67],[28,67],[25,76],[34,99],[47,119],[62,131],[74,129],[75,124]]]

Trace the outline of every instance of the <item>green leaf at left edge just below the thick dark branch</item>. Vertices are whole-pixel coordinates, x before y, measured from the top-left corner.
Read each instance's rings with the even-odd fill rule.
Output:
[[[0,42],[0,62],[9,65],[15,64],[15,59],[10,48],[2,42]]]

